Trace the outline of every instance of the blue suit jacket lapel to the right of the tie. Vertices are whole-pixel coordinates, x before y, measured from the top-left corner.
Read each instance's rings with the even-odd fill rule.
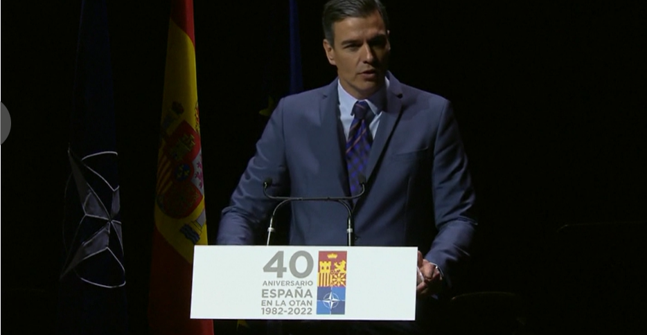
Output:
[[[387,146],[391,134],[393,134],[393,129],[395,129],[402,111],[402,87],[400,82],[391,73],[389,73],[389,82],[387,110],[383,111],[382,116],[380,116],[380,126],[371,146],[369,165],[366,166],[366,181],[371,180],[373,170],[375,170],[375,166],[378,165],[378,161],[380,161],[380,157],[384,153],[384,148]]]

